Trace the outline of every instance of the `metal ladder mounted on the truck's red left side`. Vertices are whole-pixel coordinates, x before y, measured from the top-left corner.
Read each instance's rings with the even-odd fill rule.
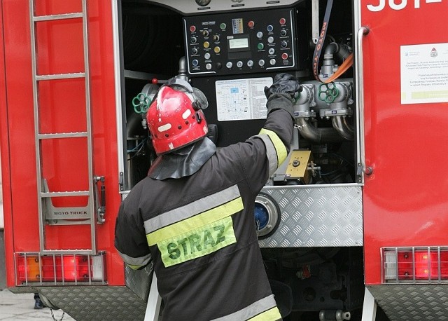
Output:
[[[37,177],[37,196],[38,196],[38,216],[39,216],[39,243],[41,254],[96,254],[96,235],[95,225],[104,223],[104,177],[93,175],[92,160],[92,123],[90,114],[90,77],[89,77],[89,57],[88,57],[88,41],[87,41],[87,4],[86,0],[82,1],[82,12],[64,13],[54,15],[35,15],[34,0],[29,0],[30,13],[30,29],[31,29],[31,65],[33,78],[33,96],[34,96],[34,133],[36,144],[36,177]],[[37,67],[37,43],[36,41],[36,25],[39,22],[48,22],[51,20],[68,20],[81,19],[83,24],[83,55],[84,55],[84,71],[71,74],[38,74]],[[38,100],[38,83],[41,81],[58,81],[69,78],[85,79],[85,116],[86,130],[83,132],[40,132],[39,118],[39,100]],[[87,164],[88,164],[88,190],[87,191],[49,191],[45,177],[43,177],[43,157],[42,142],[45,139],[71,139],[79,138],[87,139]],[[102,184],[102,206],[97,207],[97,184]],[[83,207],[54,207],[52,198],[58,197],[87,197],[87,205]],[[71,211],[71,212],[69,212]],[[69,219],[59,219],[57,214],[70,213]],[[90,249],[77,250],[52,250],[46,248],[45,224],[57,225],[90,225]]]

